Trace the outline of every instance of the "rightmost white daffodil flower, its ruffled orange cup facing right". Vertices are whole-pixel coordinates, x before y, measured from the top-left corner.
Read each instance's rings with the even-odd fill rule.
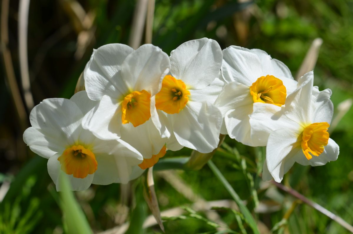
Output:
[[[339,146],[327,131],[333,115],[330,96],[330,89],[313,87],[311,71],[299,79],[284,107],[254,104],[250,123],[257,135],[269,134],[264,180],[281,182],[295,162],[320,166],[337,159]]]

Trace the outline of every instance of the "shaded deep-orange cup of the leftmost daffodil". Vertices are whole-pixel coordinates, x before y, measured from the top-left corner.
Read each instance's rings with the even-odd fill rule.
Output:
[[[82,145],[67,148],[58,158],[61,170],[76,178],[85,178],[97,170],[97,160],[94,154]]]

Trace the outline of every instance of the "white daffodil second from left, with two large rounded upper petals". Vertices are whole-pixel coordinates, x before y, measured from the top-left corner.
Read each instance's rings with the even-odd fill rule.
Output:
[[[100,139],[113,140],[120,138],[122,125],[137,127],[152,119],[160,136],[169,137],[155,107],[155,94],[169,67],[168,55],[150,44],[136,51],[122,44],[95,49],[84,80],[88,97],[99,104],[84,117],[83,128]]]

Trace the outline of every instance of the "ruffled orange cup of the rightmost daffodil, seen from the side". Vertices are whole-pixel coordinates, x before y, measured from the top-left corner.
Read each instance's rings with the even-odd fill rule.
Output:
[[[312,155],[319,156],[324,152],[324,146],[329,141],[328,128],[330,124],[323,123],[312,123],[304,128],[301,149],[305,157],[309,160]]]

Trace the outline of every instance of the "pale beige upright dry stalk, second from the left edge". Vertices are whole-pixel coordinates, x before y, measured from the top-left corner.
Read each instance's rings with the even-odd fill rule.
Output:
[[[31,83],[29,79],[28,69],[28,14],[30,0],[20,0],[19,2],[19,20],[18,20],[18,48],[19,48],[19,63],[21,72],[21,84],[23,89],[24,101],[28,111],[31,111],[34,106],[33,95],[31,92]]]

